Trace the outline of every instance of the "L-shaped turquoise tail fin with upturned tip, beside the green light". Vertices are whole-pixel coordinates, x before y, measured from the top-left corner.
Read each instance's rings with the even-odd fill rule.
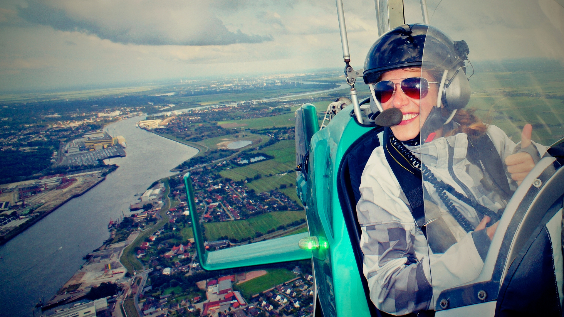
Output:
[[[234,248],[211,252],[206,251],[200,219],[198,219],[196,210],[196,202],[194,201],[194,191],[190,180],[190,173],[184,174],[184,187],[186,187],[188,208],[190,209],[190,217],[192,219],[196,252],[200,259],[200,265],[204,270],[224,270],[242,266],[311,259],[311,251],[302,250],[298,246],[298,241],[309,235],[307,232],[235,246]]]

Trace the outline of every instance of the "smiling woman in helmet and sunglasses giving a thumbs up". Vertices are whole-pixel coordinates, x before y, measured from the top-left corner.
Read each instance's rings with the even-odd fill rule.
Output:
[[[434,310],[442,290],[477,278],[503,208],[546,151],[531,125],[515,144],[462,109],[468,53],[464,41],[406,24],[364,64],[374,103],[402,116],[372,152],[356,205],[370,297],[390,314]]]

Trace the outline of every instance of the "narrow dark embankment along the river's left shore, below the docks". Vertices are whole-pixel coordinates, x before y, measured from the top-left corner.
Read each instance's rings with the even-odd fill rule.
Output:
[[[24,232],[25,230],[27,230],[29,227],[33,226],[37,222],[41,221],[41,219],[47,217],[47,215],[54,212],[60,206],[63,206],[68,201],[72,200],[73,198],[80,197],[80,196],[84,195],[84,193],[91,190],[92,188],[94,188],[99,183],[102,183],[103,180],[106,178],[106,175],[109,174],[109,173],[112,173],[112,171],[114,171],[116,169],[117,169],[117,167],[112,166],[111,169],[108,169],[106,172],[103,172],[102,173],[103,176],[100,175],[98,180],[95,180],[95,182],[89,182],[89,184],[86,184],[86,186],[82,186],[80,188],[74,187],[74,188],[64,188],[62,190],[53,190],[53,191],[60,191],[60,192],[51,193],[51,197],[55,196],[56,194],[60,194],[60,195],[58,195],[59,197],[55,197],[54,200],[46,202],[41,207],[39,207],[37,210],[35,210],[35,212],[39,213],[36,217],[33,217],[32,219],[30,219],[29,221],[27,221],[23,224],[20,224],[20,226],[18,226],[14,230],[11,230],[10,232],[8,232],[8,234],[0,236],[0,245],[7,243],[12,238],[19,235],[21,232]],[[82,181],[82,179],[77,180],[78,183],[81,183],[81,181]],[[53,195],[53,194],[55,194],[55,195]]]

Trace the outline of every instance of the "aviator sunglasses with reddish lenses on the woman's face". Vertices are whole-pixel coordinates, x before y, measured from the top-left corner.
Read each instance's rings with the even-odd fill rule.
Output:
[[[427,93],[429,93],[429,83],[440,82],[427,81],[423,77],[409,77],[398,83],[384,80],[379,81],[374,85],[374,94],[376,95],[378,102],[385,103],[390,100],[391,96],[394,95],[395,85],[399,85],[403,93],[406,94],[409,98],[425,98]]]

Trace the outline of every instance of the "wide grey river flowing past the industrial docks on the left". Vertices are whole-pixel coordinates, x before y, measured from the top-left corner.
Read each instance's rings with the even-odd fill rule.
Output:
[[[82,257],[108,239],[109,219],[129,214],[135,193],[143,193],[196,155],[195,148],[135,127],[142,119],[129,118],[106,128],[126,140],[127,156],[109,159],[120,168],[0,246],[0,316],[32,316],[39,298],[49,300],[84,263]]]

